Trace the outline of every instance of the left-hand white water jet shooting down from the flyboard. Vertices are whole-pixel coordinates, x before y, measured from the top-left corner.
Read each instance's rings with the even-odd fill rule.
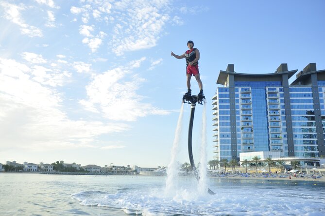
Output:
[[[182,103],[181,110],[179,112],[177,127],[175,130],[174,142],[173,142],[173,145],[171,148],[171,162],[169,163],[168,168],[167,168],[167,180],[166,180],[165,194],[169,194],[172,191],[176,190],[176,180],[177,180],[176,178],[178,175],[178,163],[176,160],[176,156],[179,152],[179,142],[180,142],[181,133],[182,133],[183,108],[184,108],[184,103]]]

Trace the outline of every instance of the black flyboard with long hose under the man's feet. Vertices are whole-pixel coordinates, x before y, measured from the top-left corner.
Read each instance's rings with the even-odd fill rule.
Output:
[[[205,96],[199,96],[199,95],[184,95],[183,96],[183,103],[187,103],[191,105],[191,114],[189,118],[189,125],[188,125],[188,157],[189,157],[189,162],[191,164],[191,168],[195,174],[196,179],[199,181],[199,175],[196,170],[195,164],[194,164],[194,159],[193,159],[193,152],[192,152],[192,132],[193,132],[193,121],[194,121],[194,112],[195,112],[195,106],[196,103],[206,104]],[[215,193],[208,188],[207,191],[209,194],[214,195]]]

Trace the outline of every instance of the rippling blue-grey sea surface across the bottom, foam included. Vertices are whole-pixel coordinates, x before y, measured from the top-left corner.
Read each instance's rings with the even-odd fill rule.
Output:
[[[166,178],[0,173],[0,216],[325,216],[322,182]]]

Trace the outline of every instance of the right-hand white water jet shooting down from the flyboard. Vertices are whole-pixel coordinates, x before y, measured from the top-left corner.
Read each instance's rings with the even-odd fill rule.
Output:
[[[200,195],[207,194],[207,178],[206,178],[206,106],[204,104],[202,112],[202,138],[201,138],[201,158],[200,158],[200,167],[199,167],[199,181],[198,181],[198,192]]]

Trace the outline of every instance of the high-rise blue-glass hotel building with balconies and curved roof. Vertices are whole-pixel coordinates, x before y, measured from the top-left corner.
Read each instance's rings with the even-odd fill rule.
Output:
[[[325,156],[325,70],[281,64],[274,73],[220,71],[213,99],[215,159],[239,153],[279,152],[283,157]]]

